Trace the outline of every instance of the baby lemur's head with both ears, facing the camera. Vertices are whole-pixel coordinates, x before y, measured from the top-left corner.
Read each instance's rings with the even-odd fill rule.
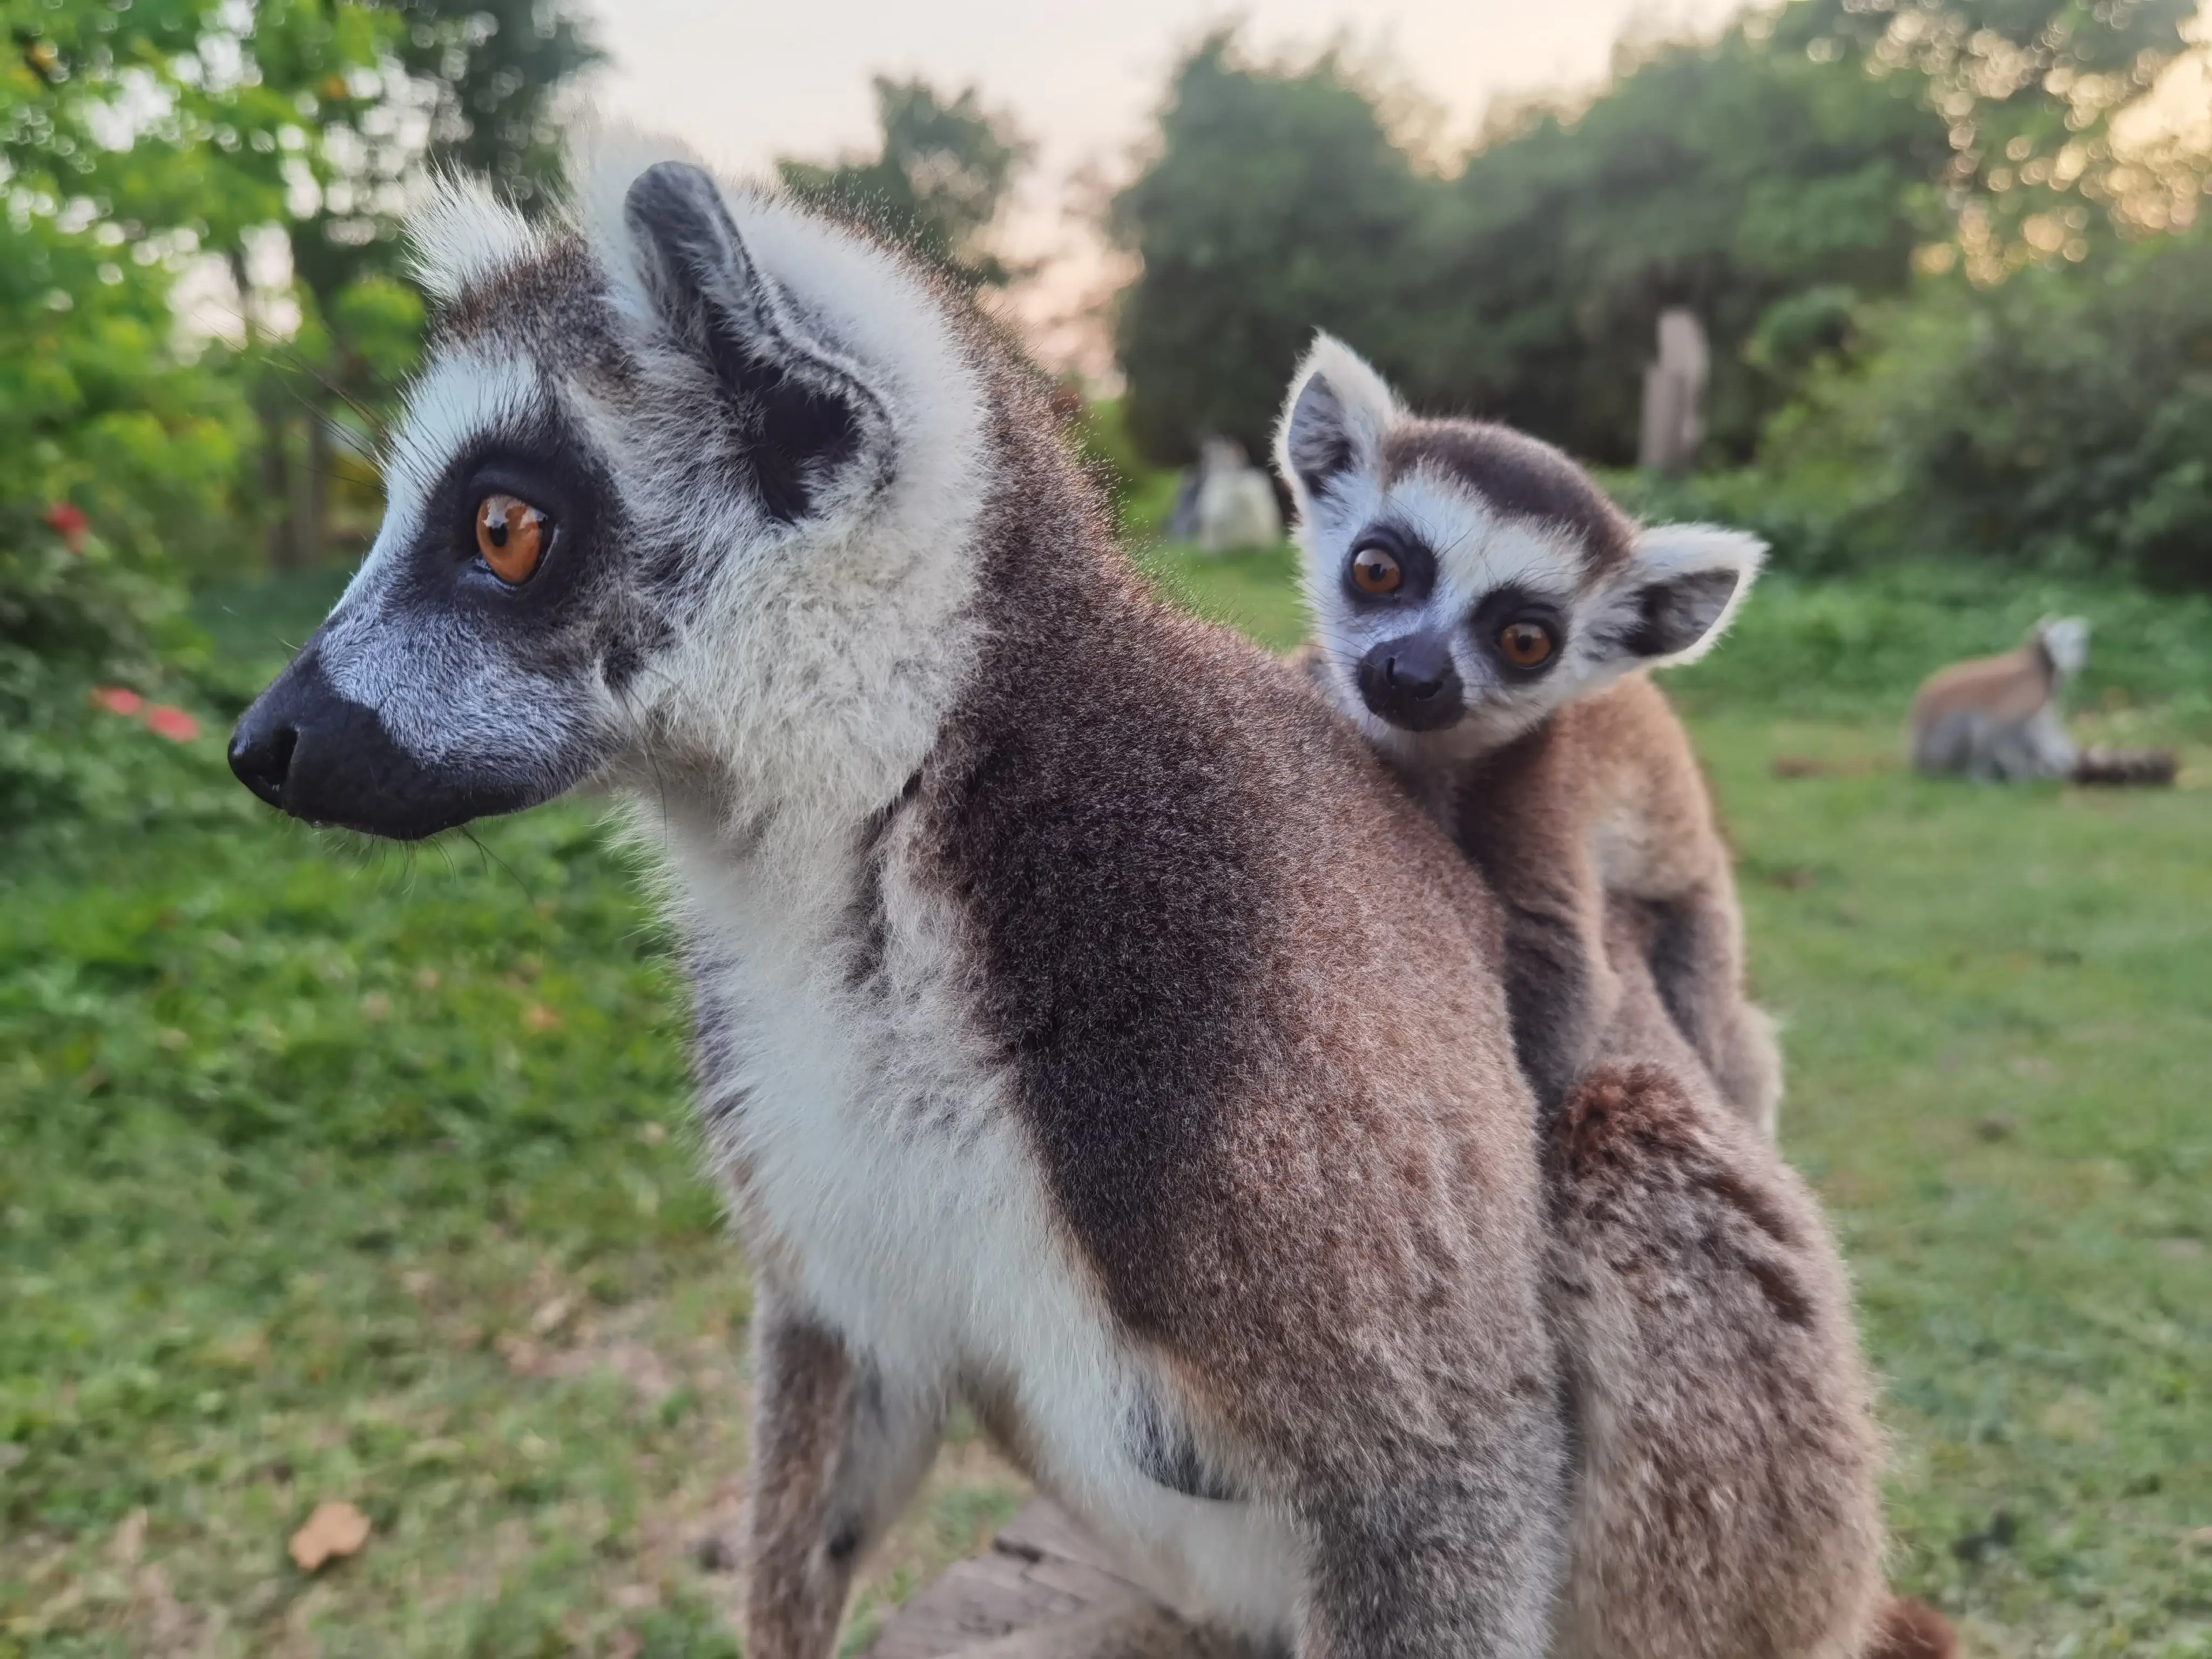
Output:
[[[1283,407],[1305,593],[1338,701],[1400,748],[1480,752],[1725,628],[1756,540],[1637,531],[1551,445],[1407,416],[1321,336]]]

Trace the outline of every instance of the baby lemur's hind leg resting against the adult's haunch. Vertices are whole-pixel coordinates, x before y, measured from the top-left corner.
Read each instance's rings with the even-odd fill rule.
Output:
[[[1774,1020],[1743,995],[1743,920],[1714,883],[1650,905],[1650,971],[1659,1000],[1697,1048],[1721,1097],[1774,1135],[1783,1057]]]

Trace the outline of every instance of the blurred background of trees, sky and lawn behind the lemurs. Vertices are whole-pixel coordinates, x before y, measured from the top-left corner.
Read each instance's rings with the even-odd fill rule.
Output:
[[[1767,535],[1668,688],[1893,1577],[1975,1655],[2212,1655],[2197,0],[0,11],[0,1657],[737,1652],[750,1298],[630,860],[314,836],[221,759],[376,529],[407,179],[553,212],[593,106],[973,288],[1270,646],[1270,491],[1208,491],[1314,327]],[[1907,772],[1916,684],[2055,613],[2075,737],[2179,787]],[[847,1650],[1020,1498],[960,1429]]]

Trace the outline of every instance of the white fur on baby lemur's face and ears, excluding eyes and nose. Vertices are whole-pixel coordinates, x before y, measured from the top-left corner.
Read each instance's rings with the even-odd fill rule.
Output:
[[[1584,531],[1559,515],[1504,511],[1449,445],[1413,445],[1411,465],[1385,465],[1385,445],[1416,422],[1389,385],[1349,347],[1327,334],[1292,380],[1276,431],[1276,465],[1298,504],[1301,575],[1314,633],[1336,701],[1371,741],[1411,759],[1471,757],[1511,741],[1553,710],[1601,690],[1624,672],[1692,661],[1728,630],[1750,593],[1765,549],[1750,535],[1708,524],[1670,524],[1635,533],[1628,557],[1608,562],[1584,544]],[[1467,427],[1469,434],[1495,429]],[[1513,453],[1540,451],[1504,434],[1493,442]],[[1571,462],[1542,451],[1562,478]],[[1590,489],[1595,500],[1595,487]],[[1610,511],[1610,509],[1608,509]],[[1383,526],[1433,555],[1433,580],[1418,602],[1369,604],[1347,591],[1345,566]],[[1728,584],[1725,602],[1688,606],[1694,626],[1655,630],[1644,613],[1674,593],[1708,593]],[[1566,644],[1540,677],[1515,675],[1471,626],[1484,602],[1520,593],[1566,624]],[[1429,633],[1449,641],[1464,717],[1431,732],[1411,732],[1369,710],[1358,668],[1385,641]]]

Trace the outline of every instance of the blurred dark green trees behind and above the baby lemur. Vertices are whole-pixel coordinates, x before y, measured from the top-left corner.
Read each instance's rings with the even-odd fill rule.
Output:
[[[1916,248],[1955,234],[1986,276],[2086,257],[2106,215],[2183,212],[2199,173],[2119,166],[2108,126],[2185,11],[1792,0],[1624,60],[1586,104],[1493,117],[1458,177],[1394,146],[1334,58],[1254,66],[1214,35],[1113,208],[1144,259],[1117,316],[1130,431],[1155,460],[1201,431],[1256,447],[1327,327],[1420,405],[1617,465],[1655,319],[1690,305],[1710,451],[1741,465],[1867,301],[1909,288]]]

